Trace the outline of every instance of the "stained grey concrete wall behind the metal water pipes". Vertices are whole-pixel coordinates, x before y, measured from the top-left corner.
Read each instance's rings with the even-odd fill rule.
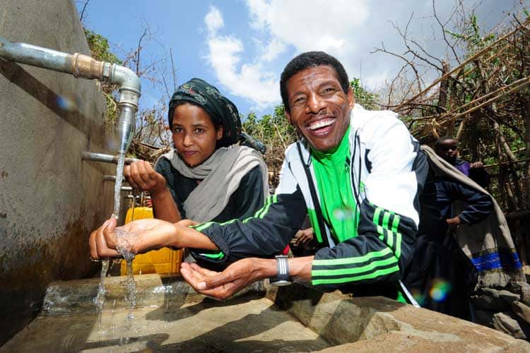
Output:
[[[73,1],[1,0],[0,35],[90,54]],[[69,102],[66,102],[69,101]],[[93,275],[88,235],[112,213],[105,101],[93,80],[0,60],[0,345],[40,310],[47,284]]]

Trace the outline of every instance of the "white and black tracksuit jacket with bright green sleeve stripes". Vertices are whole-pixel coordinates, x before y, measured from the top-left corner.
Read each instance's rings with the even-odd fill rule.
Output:
[[[428,161],[393,112],[367,111],[355,104],[350,124],[351,157],[346,167],[360,210],[357,237],[343,234],[339,241],[329,231],[319,212],[310,146],[301,140],[285,151],[276,193],[257,213],[195,227],[220,251],[194,249],[194,256],[213,263],[273,257],[285,248],[308,214],[322,246],[312,262],[313,285],[396,283],[413,257]]]

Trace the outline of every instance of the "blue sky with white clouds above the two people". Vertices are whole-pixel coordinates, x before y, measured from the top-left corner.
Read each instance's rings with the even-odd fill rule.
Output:
[[[84,2],[76,1],[78,11]],[[476,5],[481,27],[489,29],[506,18],[519,1],[464,3]],[[528,1],[523,3],[528,6]],[[453,5],[450,0],[435,3],[442,21],[447,20]],[[409,34],[436,56],[444,56],[431,0],[90,0],[83,23],[107,37],[121,57],[136,48],[144,28],[149,28],[151,35],[143,41],[141,61],[155,63],[158,77],[165,76],[170,93],[171,48],[177,85],[192,77],[203,78],[235,102],[242,114],[254,111],[261,115],[281,103],[280,73],[300,52],[329,52],[365,87],[382,87],[402,63],[370,52],[382,42],[387,49],[404,52],[402,39],[390,21],[404,28],[412,13]],[[160,82],[143,79],[142,95],[141,108],[167,101]]]

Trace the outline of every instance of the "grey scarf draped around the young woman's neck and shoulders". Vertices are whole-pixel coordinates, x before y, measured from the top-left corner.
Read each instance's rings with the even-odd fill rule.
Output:
[[[261,169],[264,198],[269,196],[267,166],[259,152],[252,148],[239,145],[218,148],[207,160],[193,168],[188,167],[174,149],[161,158],[170,160],[172,167],[184,177],[202,180],[184,201],[189,220],[213,220],[225,209],[241,179],[257,165]]]

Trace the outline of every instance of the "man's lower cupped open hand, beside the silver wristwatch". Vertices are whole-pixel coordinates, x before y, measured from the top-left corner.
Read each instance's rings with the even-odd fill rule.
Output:
[[[221,273],[206,270],[196,263],[182,263],[180,273],[197,292],[218,299],[226,299],[252,282],[268,277],[260,270],[259,264],[270,261],[244,258],[232,263]],[[275,263],[269,264],[273,270],[276,270]]]

